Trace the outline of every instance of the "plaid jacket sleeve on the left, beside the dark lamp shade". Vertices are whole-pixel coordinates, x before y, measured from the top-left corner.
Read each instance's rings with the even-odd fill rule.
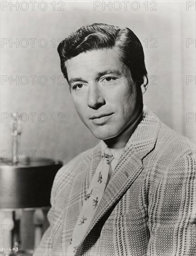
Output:
[[[63,166],[59,171],[57,172],[57,175],[55,176],[52,189],[51,189],[51,209],[49,210],[47,214],[47,219],[50,223],[49,228],[44,232],[44,235],[42,237],[42,240],[38,246],[38,248],[35,250],[33,256],[51,256],[52,255],[52,246],[53,246],[53,237],[55,232],[55,223],[59,216],[62,213],[61,208],[58,203],[56,202],[57,197],[57,191],[58,188],[61,188],[60,181],[62,177],[62,172],[64,171],[66,165]]]

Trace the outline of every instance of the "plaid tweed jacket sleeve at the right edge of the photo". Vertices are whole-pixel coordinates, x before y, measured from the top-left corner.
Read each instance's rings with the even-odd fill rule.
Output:
[[[151,179],[147,256],[196,255],[196,162],[187,150]],[[164,159],[163,162],[167,162]]]

